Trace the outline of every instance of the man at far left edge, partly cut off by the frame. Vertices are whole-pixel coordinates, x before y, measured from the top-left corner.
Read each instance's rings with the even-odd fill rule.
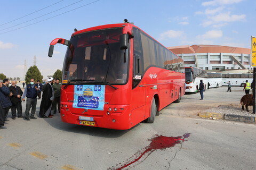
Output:
[[[0,82],[0,129],[6,129],[4,126],[5,121],[9,121],[6,119],[9,108],[12,106],[10,96],[12,93],[8,88],[9,80],[4,79],[3,82]]]

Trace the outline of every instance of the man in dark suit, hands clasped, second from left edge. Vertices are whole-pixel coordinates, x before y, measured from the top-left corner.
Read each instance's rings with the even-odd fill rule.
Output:
[[[11,96],[11,102],[12,102],[12,119],[14,120],[16,118],[16,109],[18,111],[18,117],[24,117],[22,116],[22,106],[21,106],[21,97],[22,97],[22,90],[19,86],[16,86],[17,81],[12,81],[12,86],[10,86],[10,90],[12,92]]]

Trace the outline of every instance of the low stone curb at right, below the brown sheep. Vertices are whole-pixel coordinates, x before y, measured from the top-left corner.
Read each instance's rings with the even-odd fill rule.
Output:
[[[256,123],[254,116],[241,116],[241,115],[214,113],[214,112],[199,113],[198,116],[201,118],[212,118],[213,120],[227,120],[227,121],[235,121],[235,122],[243,122],[243,123]]]

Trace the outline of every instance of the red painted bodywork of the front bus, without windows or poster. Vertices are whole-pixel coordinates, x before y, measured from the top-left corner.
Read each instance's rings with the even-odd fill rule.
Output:
[[[72,36],[82,32],[107,28],[124,27],[123,33],[132,34],[132,24],[109,24],[74,32]],[[138,27],[136,27],[138,28]],[[146,120],[150,116],[151,101],[157,98],[158,111],[177,100],[179,92],[185,94],[185,73],[174,72],[158,67],[150,67],[139,85],[132,89],[133,80],[133,39],[130,45],[130,65],[128,81],[124,85],[105,86],[105,105],[103,111],[74,108],[74,85],[61,87],[61,120],[66,123],[78,124],[79,116],[93,117],[96,127],[125,130]],[[111,111],[109,111],[111,108]],[[114,111],[117,108],[117,111]],[[108,114],[109,113],[109,114]]]

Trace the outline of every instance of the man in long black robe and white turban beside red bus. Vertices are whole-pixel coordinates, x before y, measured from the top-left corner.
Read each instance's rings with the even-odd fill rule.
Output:
[[[47,84],[45,86],[45,89],[43,91],[43,97],[40,105],[40,111],[39,116],[40,117],[52,117],[51,115],[51,108],[52,103],[54,99],[54,90],[52,88],[51,82],[53,81],[53,78],[47,79]]]

